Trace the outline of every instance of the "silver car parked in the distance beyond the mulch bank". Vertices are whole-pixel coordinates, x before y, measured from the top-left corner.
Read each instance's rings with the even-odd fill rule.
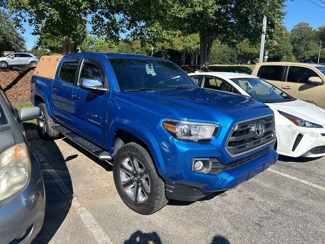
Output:
[[[31,53],[15,52],[7,56],[0,57],[0,69],[7,69],[13,66],[37,66],[40,59]]]

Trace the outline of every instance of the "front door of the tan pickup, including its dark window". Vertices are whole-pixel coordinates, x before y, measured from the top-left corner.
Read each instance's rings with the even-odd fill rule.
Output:
[[[286,93],[295,98],[322,108],[324,105],[324,86],[308,83],[309,77],[319,77],[322,79],[309,67],[288,66],[285,81],[282,83],[282,89],[285,89]]]

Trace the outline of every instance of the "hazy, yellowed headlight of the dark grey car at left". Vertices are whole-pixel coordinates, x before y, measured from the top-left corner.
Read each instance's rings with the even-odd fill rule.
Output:
[[[30,157],[25,143],[11,146],[0,154],[0,201],[27,184],[30,170]]]

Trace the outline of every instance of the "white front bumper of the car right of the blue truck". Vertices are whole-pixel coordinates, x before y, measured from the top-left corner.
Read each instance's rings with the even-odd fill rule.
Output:
[[[277,152],[289,157],[325,156],[325,129],[277,126]]]

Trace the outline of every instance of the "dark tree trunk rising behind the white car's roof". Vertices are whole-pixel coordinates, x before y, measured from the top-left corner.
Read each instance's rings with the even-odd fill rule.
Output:
[[[200,34],[200,68],[209,69],[214,35],[205,36]]]

